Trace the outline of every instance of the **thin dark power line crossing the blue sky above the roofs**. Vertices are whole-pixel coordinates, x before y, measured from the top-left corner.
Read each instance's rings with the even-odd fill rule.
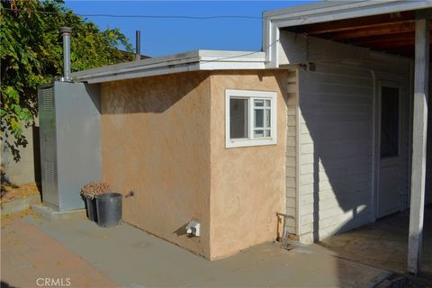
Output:
[[[23,9],[4,8],[8,11],[23,12]],[[58,12],[40,11],[35,12],[40,14],[62,14]],[[247,15],[212,15],[212,16],[186,16],[186,15],[133,15],[133,14],[76,14],[82,17],[111,17],[111,18],[148,18],[148,19],[190,19],[190,20],[211,20],[211,19],[247,19],[247,20],[263,20],[263,17],[247,16]]]

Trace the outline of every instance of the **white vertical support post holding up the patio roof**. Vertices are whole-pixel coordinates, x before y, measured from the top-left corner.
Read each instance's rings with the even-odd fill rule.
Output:
[[[408,271],[418,274],[421,261],[425,206],[426,145],[428,134],[429,19],[416,20],[414,113],[412,137],[410,235]]]

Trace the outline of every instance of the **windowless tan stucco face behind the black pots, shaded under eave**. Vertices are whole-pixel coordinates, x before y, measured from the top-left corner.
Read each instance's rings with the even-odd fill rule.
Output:
[[[210,257],[210,101],[207,72],[102,85],[103,180],[112,190],[134,192],[123,198],[123,220],[204,257]],[[185,235],[191,219],[202,223],[201,238]]]

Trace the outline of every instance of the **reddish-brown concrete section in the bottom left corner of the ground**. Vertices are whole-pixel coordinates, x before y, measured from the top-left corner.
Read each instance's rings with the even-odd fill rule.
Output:
[[[117,287],[109,276],[19,216],[4,217],[1,238],[1,287]]]

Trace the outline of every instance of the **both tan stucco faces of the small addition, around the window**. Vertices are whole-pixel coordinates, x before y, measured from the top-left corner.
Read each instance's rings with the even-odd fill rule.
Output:
[[[189,72],[102,85],[103,180],[123,220],[204,257],[274,240],[284,212],[287,72]],[[225,90],[278,94],[277,144],[225,148]],[[202,237],[184,226],[202,223]]]

